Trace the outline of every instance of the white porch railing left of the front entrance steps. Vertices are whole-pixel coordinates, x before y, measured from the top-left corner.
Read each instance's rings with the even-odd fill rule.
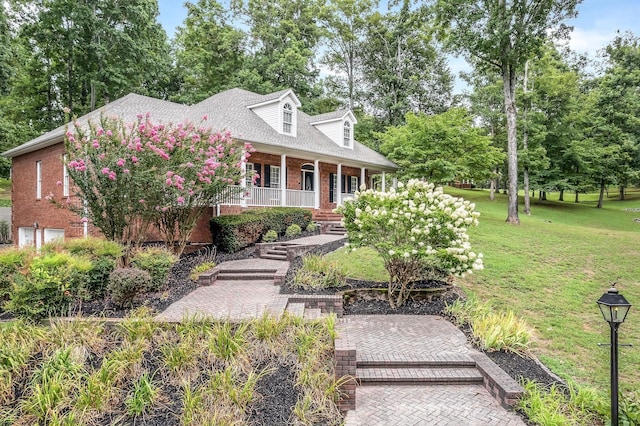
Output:
[[[239,206],[244,195],[247,206],[267,207],[281,205],[282,190],[280,188],[248,187],[244,194],[242,191],[237,192],[238,189],[238,186],[231,187],[228,194],[221,197],[220,204]],[[234,194],[234,192],[236,193]],[[315,206],[314,191],[287,189],[286,193],[286,206],[311,208]]]

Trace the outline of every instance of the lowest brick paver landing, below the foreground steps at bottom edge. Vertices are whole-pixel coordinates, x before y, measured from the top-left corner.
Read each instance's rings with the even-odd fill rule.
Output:
[[[482,385],[359,386],[345,426],[524,426]]]

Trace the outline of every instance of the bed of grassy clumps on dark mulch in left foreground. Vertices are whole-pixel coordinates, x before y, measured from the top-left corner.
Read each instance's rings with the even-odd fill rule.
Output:
[[[340,424],[335,318],[0,324],[0,425]]]

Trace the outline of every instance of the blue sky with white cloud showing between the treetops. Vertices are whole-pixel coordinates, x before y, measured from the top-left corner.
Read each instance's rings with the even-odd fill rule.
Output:
[[[158,0],[158,4],[159,21],[169,37],[173,37],[175,28],[187,16],[184,1]],[[598,50],[613,40],[617,30],[632,31],[640,35],[640,0],[584,0],[578,5],[578,17],[568,24],[574,27],[570,47],[578,53],[587,53],[595,58]],[[469,66],[461,58],[451,58],[449,67],[455,75],[459,71],[469,70]],[[458,79],[454,92],[459,93],[462,89],[462,83]]]

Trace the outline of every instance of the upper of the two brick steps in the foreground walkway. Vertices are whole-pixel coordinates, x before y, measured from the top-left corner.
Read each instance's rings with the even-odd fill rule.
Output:
[[[357,354],[358,368],[475,368],[476,361],[464,354],[443,353],[436,357],[421,354]]]

